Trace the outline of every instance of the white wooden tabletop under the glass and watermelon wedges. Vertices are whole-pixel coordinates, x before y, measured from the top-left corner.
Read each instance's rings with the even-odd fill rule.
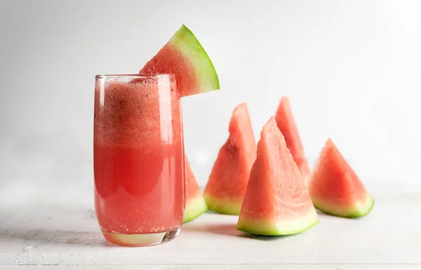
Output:
[[[237,217],[208,212],[149,248],[105,242],[88,199],[0,205],[0,270],[421,269],[421,194],[374,196],[367,217],[320,214],[309,231],[278,238],[246,236]]]

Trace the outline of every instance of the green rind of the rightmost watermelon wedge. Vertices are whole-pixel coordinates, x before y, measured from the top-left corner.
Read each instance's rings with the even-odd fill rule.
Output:
[[[312,198],[313,205],[317,210],[324,212],[328,215],[334,215],[336,217],[349,217],[349,218],[356,218],[356,217],[364,217],[368,215],[374,207],[374,199],[372,196],[367,195],[366,201],[363,202],[355,202],[354,205],[342,208],[338,205],[333,205],[330,203],[324,203],[322,200]]]

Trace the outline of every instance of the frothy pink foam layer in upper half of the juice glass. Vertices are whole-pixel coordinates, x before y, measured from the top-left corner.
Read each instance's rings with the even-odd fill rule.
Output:
[[[95,87],[95,95],[95,143],[132,147],[177,143],[181,130],[175,82],[159,78],[110,81]]]

